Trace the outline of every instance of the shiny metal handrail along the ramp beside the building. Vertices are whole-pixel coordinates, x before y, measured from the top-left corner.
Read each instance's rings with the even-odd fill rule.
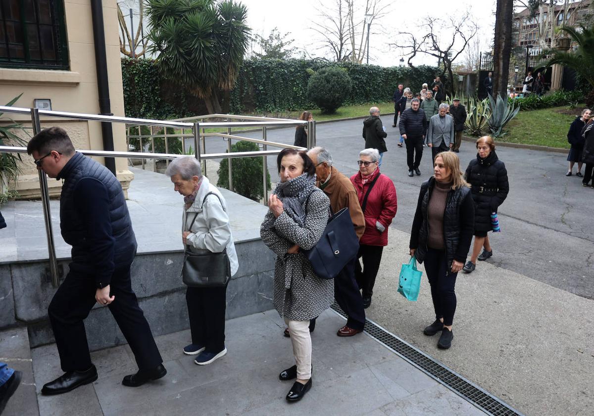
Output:
[[[108,115],[97,115],[97,114],[83,114],[83,113],[73,113],[73,112],[64,112],[64,111],[48,111],[48,110],[39,110],[39,109],[27,109],[27,108],[18,108],[18,107],[9,107],[9,106],[0,106],[0,112],[8,113],[8,114],[23,114],[29,115],[31,117],[31,124],[33,128],[33,133],[38,134],[41,131],[40,127],[40,117],[41,116],[50,116],[50,117],[59,117],[59,118],[70,118],[70,119],[80,119],[84,121],[101,121],[101,122],[118,122],[118,123],[126,123],[131,125],[149,125],[151,126],[151,131],[153,126],[160,126],[160,127],[173,127],[173,128],[181,128],[182,132],[184,128],[191,129],[192,134],[188,135],[182,133],[183,137],[192,137],[194,138],[194,156],[199,161],[203,159],[235,159],[240,157],[254,157],[260,156],[263,159],[263,185],[264,185],[264,203],[266,204],[266,196],[267,196],[267,156],[274,156],[278,155],[282,150],[267,150],[267,144],[276,147],[283,147],[283,148],[290,148],[290,149],[302,149],[301,147],[297,146],[290,146],[287,144],[276,143],[267,141],[266,137],[266,129],[267,127],[276,127],[276,126],[294,126],[294,125],[301,125],[307,124],[308,127],[308,149],[312,146],[315,146],[315,121],[301,121],[301,120],[283,120],[283,119],[272,119],[266,117],[254,117],[254,116],[235,116],[235,115],[226,115],[226,114],[214,114],[204,116],[205,119],[208,118],[227,118],[229,119],[249,119],[248,122],[181,122],[181,121],[162,121],[162,120],[154,120],[154,119],[140,119],[140,118],[130,118],[130,117],[120,117],[120,116],[108,116]],[[192,119],[200,119],[200,118],[192,118]],[[217,127],[225,127],[227,128],[227,134],[221,133],[205,133],[205,128],[217,128]],[[259,139],[252,139],[247,137],[242,137],[238,135],[231,134],[231,128],[233,127],[260,127],[262,128],[262,140]],[[203,138],[202,138],[202,149],[200,146],[200,128],[203,128]],[[180,134],[172,134],[174,136],[180,136]],[[218,137],[223,137],[228,140],[228,153],[206,153],[206,140],[204,137],[207,135],[213,135]],[[165,147],[166,151],[168,150],[167,146],[167,135],[165,135]],[[263,150],[258,152],[231,152],[231,140],[249,140],[254,141],[255,143],[260,144],[263,147]],[[140,137],[142,140],[142,137]],[[182,145],[183,145],[182,140]],[[153,144],[154,146],[154,144]],[[116,151],[108,151],[108,150],[79,150],[80,153],[87,156],[101,156],[101,157],[131,157],[136,159],[166,159],[172,160],[177,157],[183,157],[187,155],[176,155],[172,153],[146,153],[146,152],[116,152]],[[17,146],[0,146],[0,153],[27,153],[26,147],[17,147]],[[205,169],[206,174],[206,169]],[[49,255],[49,275],[51,276],[52,285],[54,287],[59,286],[59,269],[58,269],[58,261],[56,259],[56,249],[55,244],[53,241],[53,230],[52,230],[52,220],[50,214],[50,206],[49,206],[49,190],[48,190],[48,181],[45,173],[39,169],[39,187],[41,191],[41,198],[42,198],[42,206],[43,206],[43,216],[45,219],[45,228],[46,228],[46,236],[48,238],[48,255]],[[229,163],[229,187],[232,188],[232,163]]]

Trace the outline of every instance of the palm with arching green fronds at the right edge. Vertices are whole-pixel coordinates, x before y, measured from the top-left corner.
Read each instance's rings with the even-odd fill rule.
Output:
[[[553,54],[551,59],[544,62],[544,66],[561,64],[576,71],[590,84],[590,100],[594,100],[594,23],[590,27],[580,23],[577,27],[563,26],[558,30],[567,33],[577,47],[570,51],[560,49],[543,51],[542,55]]]

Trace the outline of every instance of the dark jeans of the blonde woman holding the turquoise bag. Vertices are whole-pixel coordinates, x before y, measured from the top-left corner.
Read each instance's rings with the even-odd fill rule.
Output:
[[[444,325],[451,325],[456,312],[456,276],[447,267],[444,250],[429,248],[425,255],[425,272],[431,285],[431,299],[435,309],[435,319],[444,319]]]

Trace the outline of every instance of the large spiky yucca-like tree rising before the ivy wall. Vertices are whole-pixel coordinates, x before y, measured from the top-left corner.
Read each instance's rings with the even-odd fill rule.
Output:
[[[218,92],[235,86],[247,51],[247,8],[233,0],[147,0],[150,52],[166,78],[222,112]]]

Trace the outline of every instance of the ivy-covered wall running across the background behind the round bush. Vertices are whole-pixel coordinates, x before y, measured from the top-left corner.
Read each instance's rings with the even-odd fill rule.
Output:
[[[431,84],[441,72],[423,66],[384,68],[350,62],[254,59],[242,65],[235,89],[224,98],[223,109],[242,114],[315,108],[306,96],[307,82],[312,71],[329,66],[345,68],[352,80],[345,105],[390,101],[399,83],[418,92],[423,83]],[[150,59],[122,59],[122,77],[127,116],[165,119],[207,113],[201,100],[166,81]]]

